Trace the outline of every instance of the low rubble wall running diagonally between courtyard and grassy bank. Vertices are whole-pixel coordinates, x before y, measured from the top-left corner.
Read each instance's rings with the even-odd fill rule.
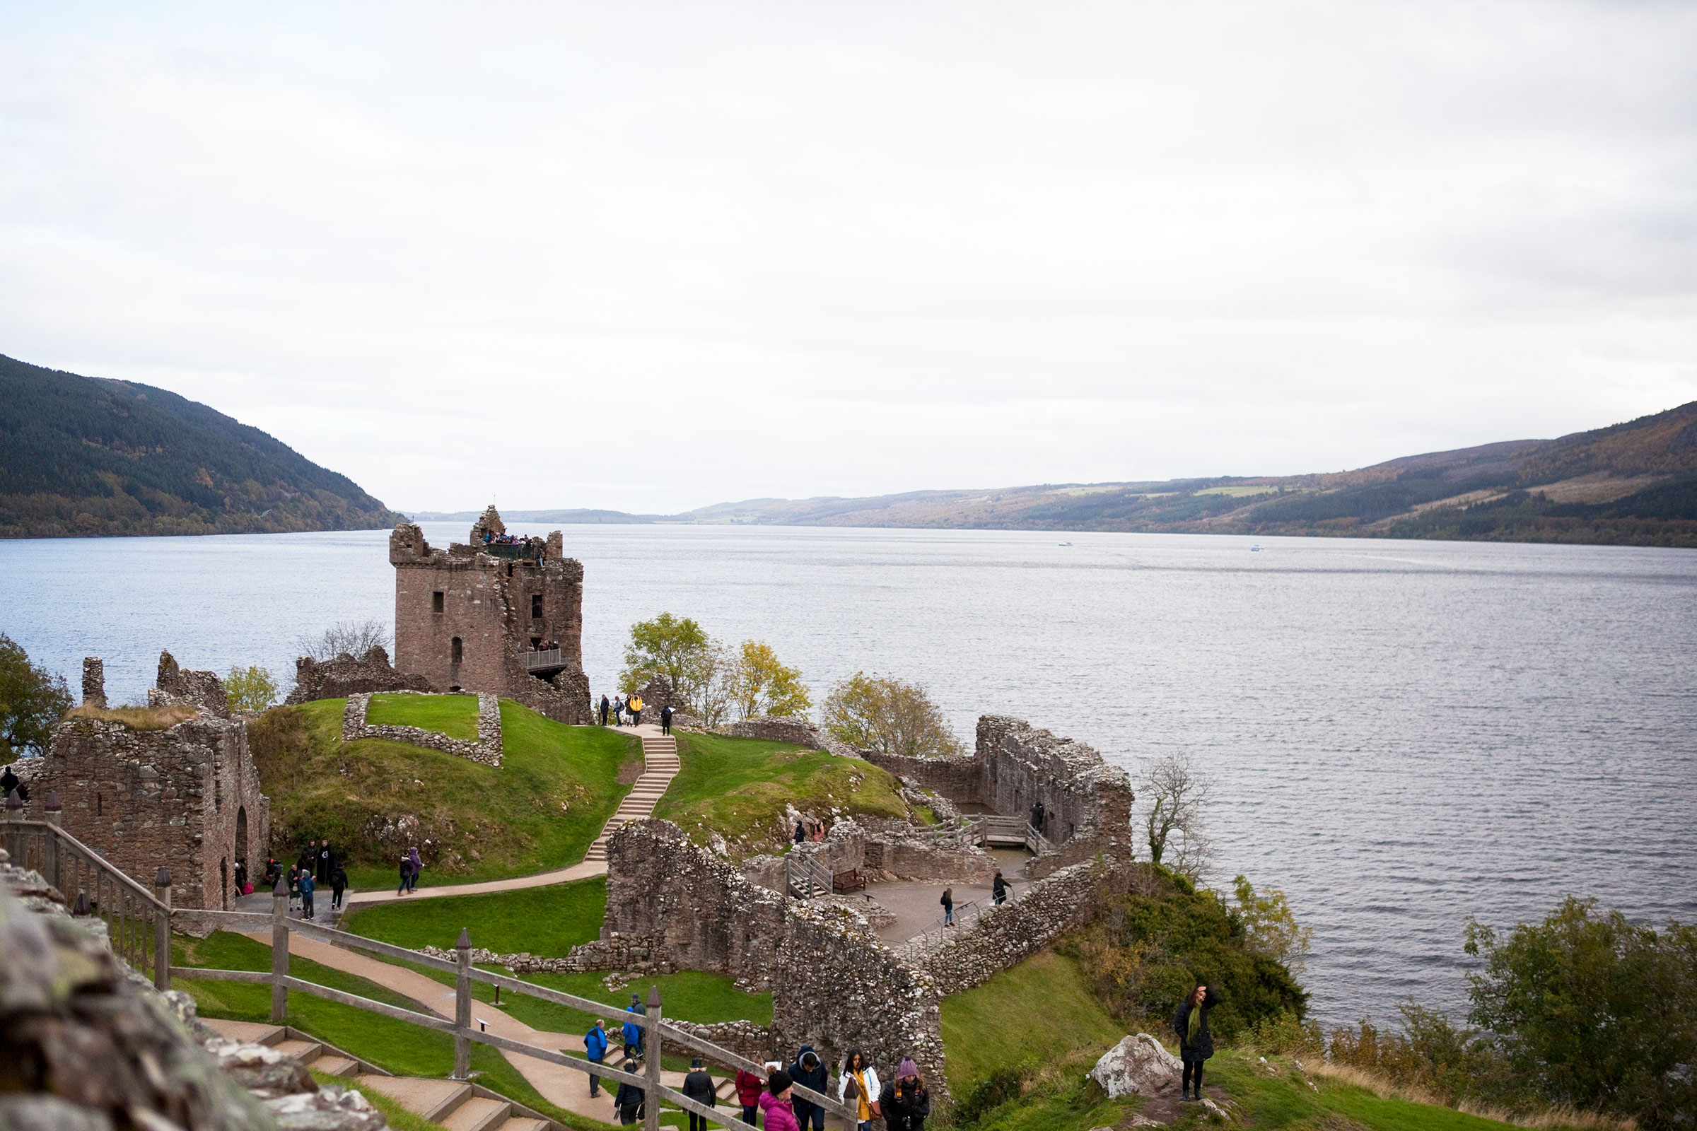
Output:
[[[918,967],[942,995],[971,990],[1020,963],[1059,936],[1091,922],[1113,899],[1132,890],[1134,872],[1117,856],[1062,868],[1032,883],[1020,899],[991,907]]]

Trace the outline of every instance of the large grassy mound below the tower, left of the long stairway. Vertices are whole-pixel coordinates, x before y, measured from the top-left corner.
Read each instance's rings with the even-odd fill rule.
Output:
[[[348,855],[356,889],[394,885],[409,846],[426,863],[421,885],[577,863],[630,792],[619,768],[641,756],[626,734],[562,726],[502,700],[496,770],[406,743],[343,743],[344,707],[273,707],[248,741],[272,797],[272,851],[292,860],[304,841],[328,836]]]

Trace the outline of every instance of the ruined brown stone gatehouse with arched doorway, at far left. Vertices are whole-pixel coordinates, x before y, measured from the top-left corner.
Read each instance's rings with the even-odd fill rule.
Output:
[[[53,729],[32,797],[59,794],[61,826],[178,907],[227,909],[238,860],[265,861],[272,802],[248,726],[200,714],[165,731],[71,716]],[[70,894],[75,899],[75,892]]]

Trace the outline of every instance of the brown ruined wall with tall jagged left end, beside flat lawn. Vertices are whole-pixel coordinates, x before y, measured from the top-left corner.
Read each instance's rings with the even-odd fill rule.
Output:
[[[572,953],[604,956],[604,970],[636,956],[658,967],[767,978],[784,938],[784,897],[750,883],[696,848],[670,821],[633,821],[608,841],[608,916],[599,943]]]

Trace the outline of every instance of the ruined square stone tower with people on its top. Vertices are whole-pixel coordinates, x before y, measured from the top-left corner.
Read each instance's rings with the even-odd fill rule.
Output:
[[[584,566],[546,539],[506,539],[490,505],[468,543],[446,549],[402,522],[395,566],[395,668],[441,692],[492,692],[560,722],[589,722]],[[545,649],[543,644],[558,644]]]

